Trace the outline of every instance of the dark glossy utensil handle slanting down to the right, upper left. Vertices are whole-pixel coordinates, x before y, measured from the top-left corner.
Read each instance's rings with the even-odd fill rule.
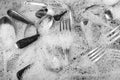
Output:
[[[8,16],[10,16],[10,17],[12,17],[12,18],[14,18],[14,19],[16,19],[18,21],[21,21],[21,22],[26,23],[26,24],[34,25],[34,22],[32,22],[31,20],[29,20],[25,16],[21,15],[20,13],[18,13],[15,10],[9,9],[7,11],[7,14],[8,14]]]

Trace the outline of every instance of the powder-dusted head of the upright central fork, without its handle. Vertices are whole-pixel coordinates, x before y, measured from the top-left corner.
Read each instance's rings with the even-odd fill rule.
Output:
[[[71,20],[63,19],[60,21],[60,34],[59,40],[61,41],[62,47],[64,49],[69,48],[72,43],[73,36],[71,31]]]

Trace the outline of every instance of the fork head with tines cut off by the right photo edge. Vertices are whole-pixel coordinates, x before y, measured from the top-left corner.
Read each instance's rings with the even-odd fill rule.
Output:
[[[112,29],[110,32],[108,32],[107,34],[103,35],[102,38],[103,38],[105,44],[109,45],[120,38],[120,30],[119,29],[120,29],[120,26],[117,26],[114,29]]]

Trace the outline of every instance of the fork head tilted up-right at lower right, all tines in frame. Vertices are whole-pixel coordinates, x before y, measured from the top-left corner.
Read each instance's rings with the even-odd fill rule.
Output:
[[[105,55],[106,47],[98,46],[83,55],[84,63],[82,66],[95,65]]]

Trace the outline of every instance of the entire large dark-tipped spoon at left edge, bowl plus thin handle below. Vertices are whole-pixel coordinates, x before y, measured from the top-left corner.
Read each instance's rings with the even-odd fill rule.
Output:
[[[0,50],[3,52],[4,63],[14,54],[16,41],[15,26],[12,21],[4,16],[0,18]],[[6,72],[6,65],[4,70]]]

